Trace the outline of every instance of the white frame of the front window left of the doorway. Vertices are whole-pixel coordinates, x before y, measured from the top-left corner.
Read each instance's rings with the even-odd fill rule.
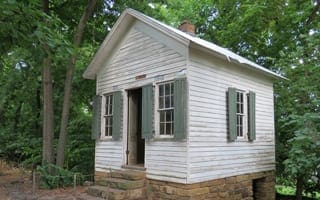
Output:
[[[111,97],[111,98],[110,98]],[[106,103],[107,103],[107,98],[109,98],[109,102],[110,102],[110,99],[111,99],[111,104],[109,103],[108,104],[108,110],[110,109],[111,107],[111,113],[108,113],[106,114]],[[113,94],[112,93],[106,93],[106,94],[103,94],[102,95],[102,112],[101,112],[101,118],[102,118],[102,126],[101,126],[101,139],[112,139],[112,125],[113,125]],[[107,118],[108,117],[111,117],[112,119],[112,123],[111,123],[111,126],[109,126],[109,128],[111,129],[111,135],[110,133],[108,132],[107,133],[107,130],[106,130],[106,126],[107,126]],[[109,130],[110,130],[109,129]]]

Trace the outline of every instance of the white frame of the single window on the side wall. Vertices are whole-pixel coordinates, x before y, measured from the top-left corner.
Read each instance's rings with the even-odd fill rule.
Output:
[[[238,113],[238,93],[241,93],[243,95],[243,112],[241,114]],[[237,140],[247,140],[248,139],[248,94],[249,92],[246,90],[236,89],[236,128],[237,128]],[[238,116],[242,115],[243,124],[242,124],[242,136],[238,135]]]

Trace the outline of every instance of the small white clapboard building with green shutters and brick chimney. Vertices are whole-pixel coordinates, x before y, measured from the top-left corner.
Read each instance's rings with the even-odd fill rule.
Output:
[[[131,168],[154,185],[196,189],[222,180],[225,198],[239,179],[251,181],[248,197],[263,185],[274,198],[273,82],[281,76],[132,9],[83,76],[96,79],[97,174]]]

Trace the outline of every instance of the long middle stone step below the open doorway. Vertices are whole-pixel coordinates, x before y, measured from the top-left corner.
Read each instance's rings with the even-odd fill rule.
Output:
[[[145,180],[125,180],[120,178],[106,178],[96,181],[96,185],[109,186],[113,189],[132,190],[145,187]]]

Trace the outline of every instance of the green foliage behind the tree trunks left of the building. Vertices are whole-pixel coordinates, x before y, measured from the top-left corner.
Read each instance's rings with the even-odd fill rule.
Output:
[[[80,8],[85,3],[79,1],[77,5]],[[54,9],[48,16],[38,1],[0,2],[0,140],[5,141],[0,146],[0,157],[28,168],[39,165],[42,156],[43,57],[52,53],[55,122],[59,122],[67,58],[75,51],[70,44],[76,25],[74,21],[80,19],[82,9],[74,10],[61,4],[62,1],[52,2]],[[101,16],[96,17],[99,18]],[[103,26],[99,24],[100,29]],[[84,80],[82,73],[98,46],[97,42],[91,42],[93,37],[90,34],[95,33],[87,34],[85,40],[88,42],[77,49],[80,56],[74,76],[76,92],[72,97],[68,127],[70,142],[66,155],[66,168],[84,174],[92,173],[94,165],[90,101],[95,83]],[[44,49],[43,44],[48,44],[49,49]],[[58,123],[55,125],[56,143],[59,126]]]

